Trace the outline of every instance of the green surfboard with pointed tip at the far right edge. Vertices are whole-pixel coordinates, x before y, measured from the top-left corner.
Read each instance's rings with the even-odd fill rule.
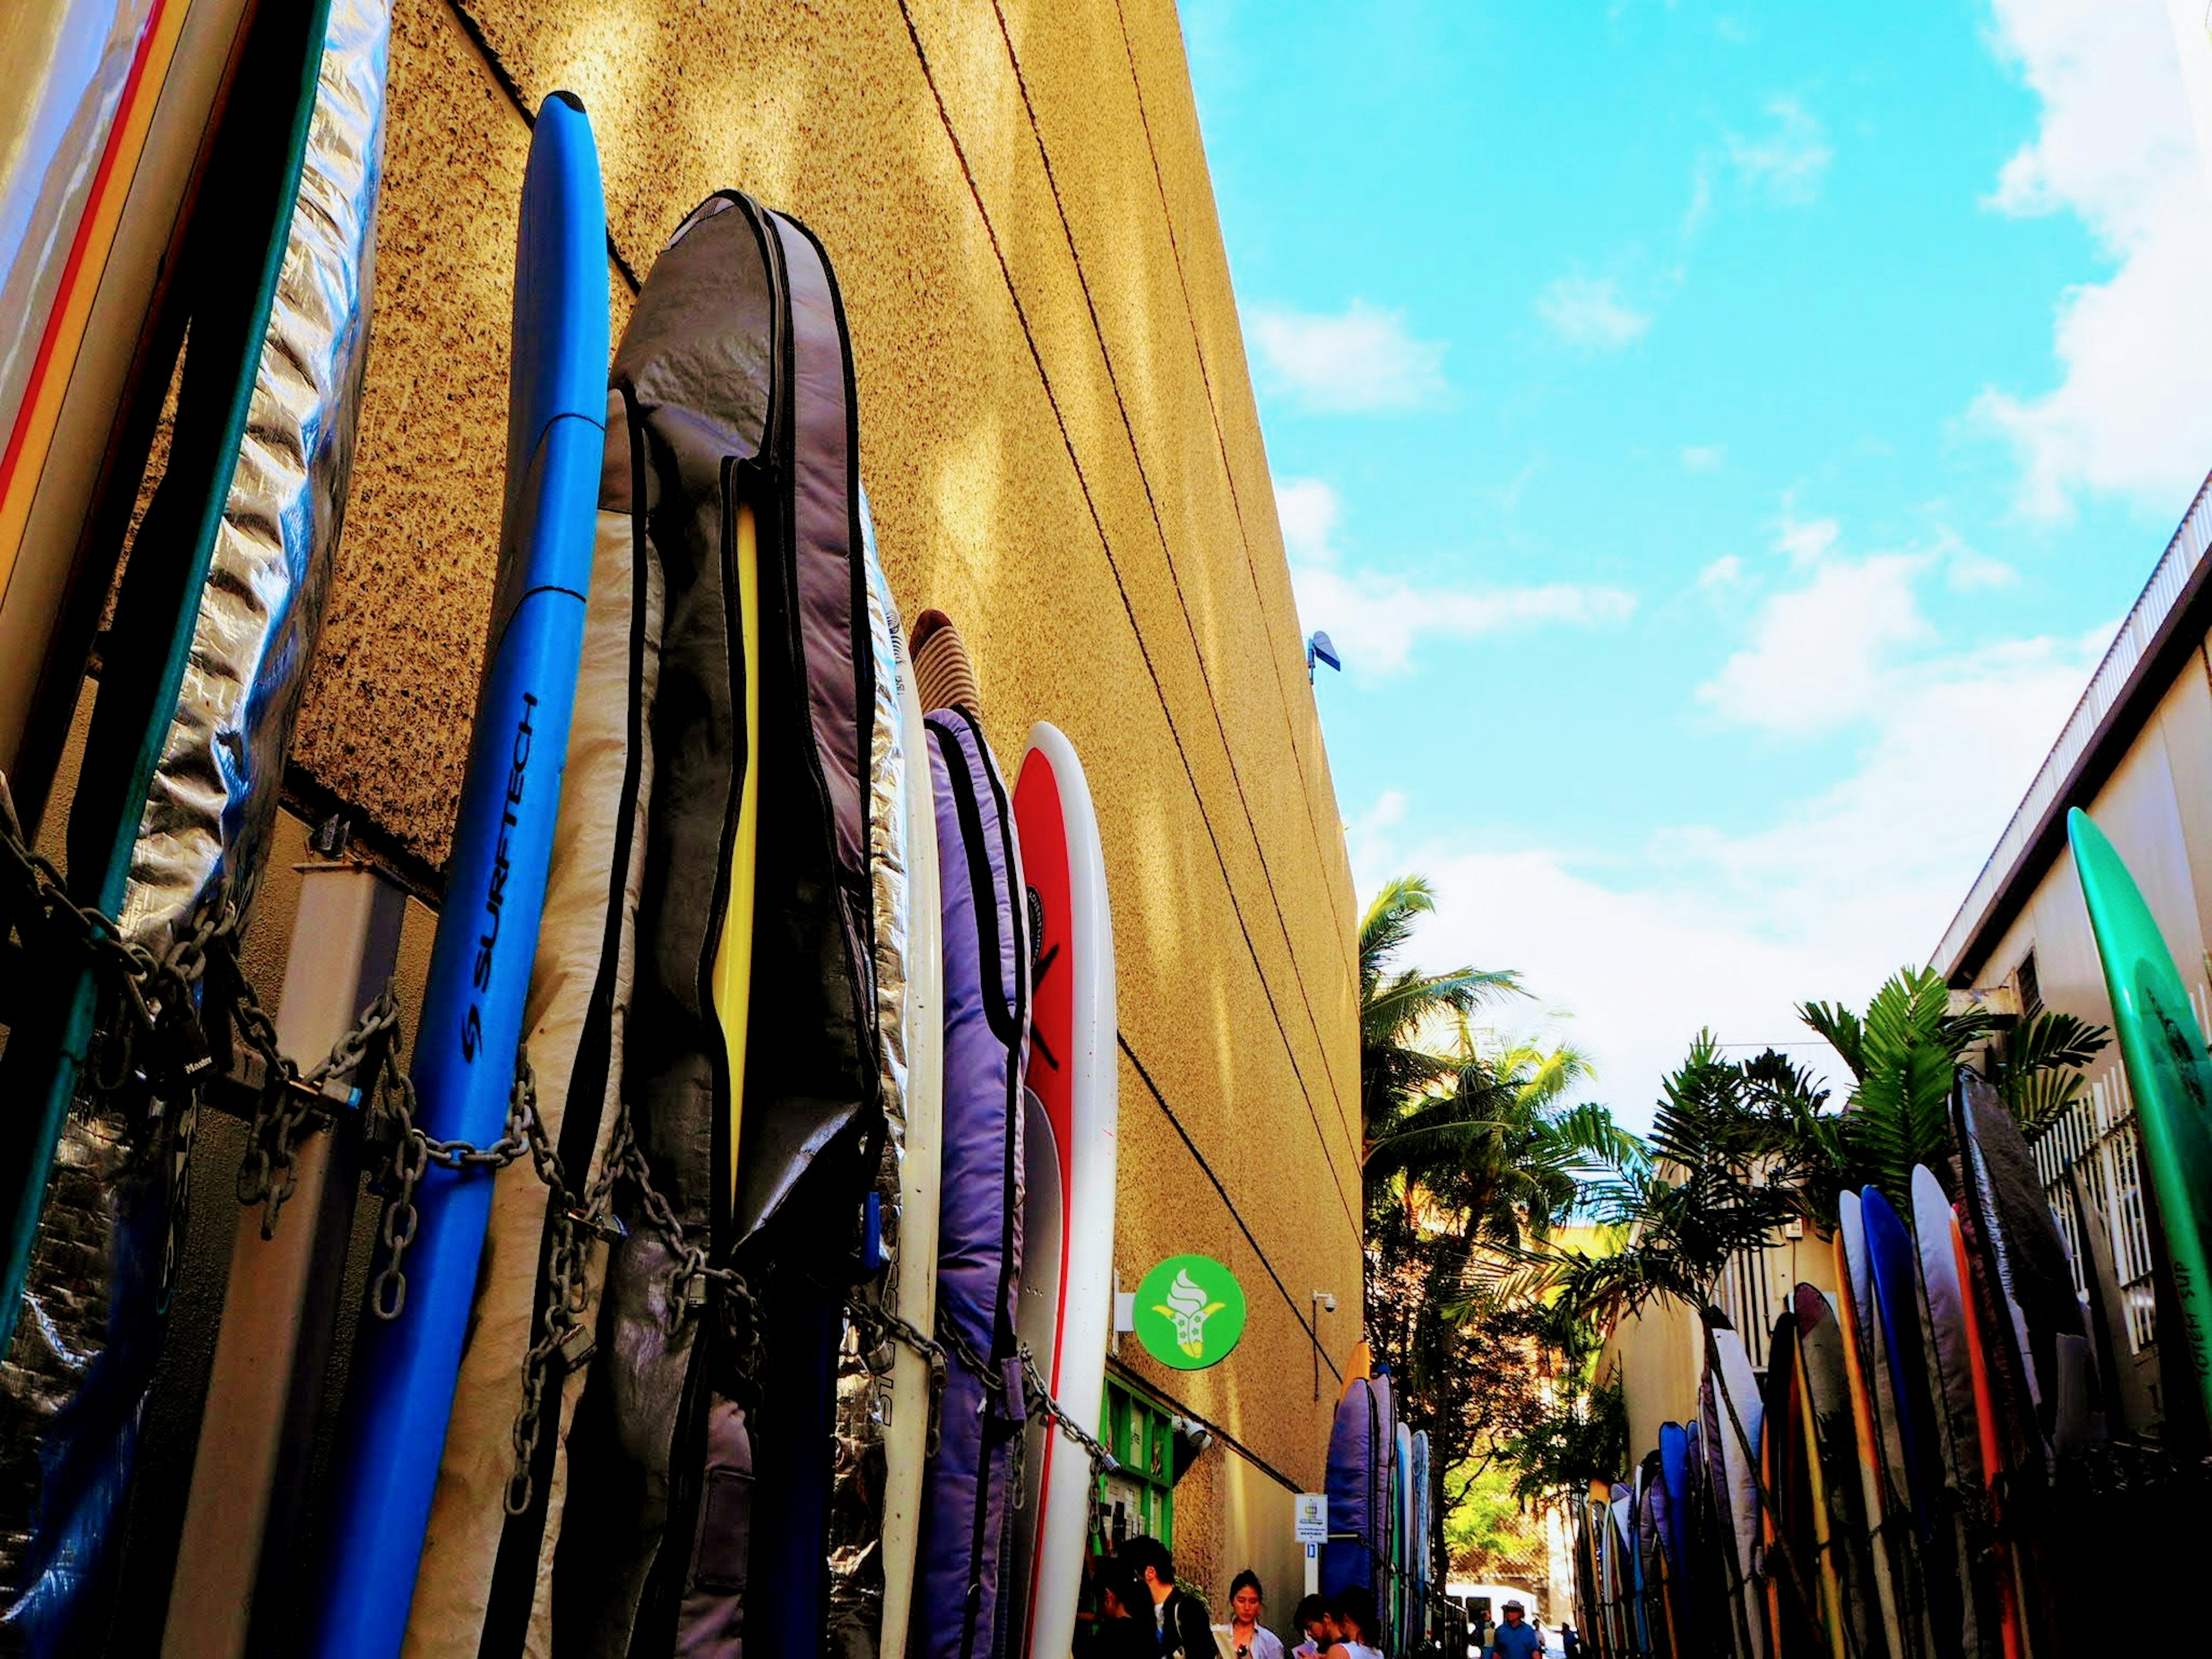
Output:
[[[2081,898],[2104,958],[2112,995],[2112,1026],[2128,1066],[2143,1159],[2166,1219],[2174,1290],[2181,1301],[2181,1338],[2159,1352],[2181,1352],[2197,1374],[2197,1394],[2212,1416],[2212,1060],[2190,1006],[2188,984],[2159,936],[2128,865],[2086,812],[2066,814]],[[2179,1387],[2179,1376],[2168,1376]]]

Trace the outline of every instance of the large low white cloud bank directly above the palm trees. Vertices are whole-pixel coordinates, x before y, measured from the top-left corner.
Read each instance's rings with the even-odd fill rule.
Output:
[[[1851,566],[1856,568],[1856,566]],[[1818,577],[1816,577],[1818,580]],[[1863,1004],[1924,960],[1995,845],[2110,630],[1971,653],[1887,655],[1856,697],[1856,770],[1754,832],[1681,825],[1628,856],[1467,852],[1378,825],[1354,841],[1363,889],[1400,869],[1438,887],[1416,936],[1429,967],[1522,969],[1528,1029],[1586,1048],[1593,1097],[1644,1124],[1690,1037],[1790,1046],[1836,1073],[1794,1004]]]

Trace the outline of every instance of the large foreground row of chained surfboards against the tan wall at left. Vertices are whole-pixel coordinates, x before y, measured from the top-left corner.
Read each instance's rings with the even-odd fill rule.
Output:
[[[0,836],[27,969],[0,1053],[0,1635],[100,1650],[150,1582],[122,1559],[133,1509],[181,1509],[150,1486],[188,1473],[142,1467],[148,1398],[212,1345],[217,1371],[338,1369],[343,1402],[285,1455],[312,1491],[219,1493],[312,1533],[312,1562],[250,1615],[179,1571],[166,1652],[1066,1655],[1117,1144],[1084,772],[1040,723],[1009,785],[958,630],[900,615],[801,223],[710,197],[611,352],[566,93],[522,188],[498,584],[409,1075],[372,1086],[354,1055],[288,1088],[272,1064],[241,1175],[279,1232],[312,1225],[281,1214],[305,1141],[376,1119],[376,1274],[338,1310],[307,1276],[270,1316],[234,1265],[232,1329],[186,1329],[192,1124],[237,1051],[210,925],[268,854],[347,498],[389,7],[35,11],[51,142],[0,179],[38,230],[0,290],[4,626],[38,641],[0,659],[29,710],[29,823]],[[58,869],[27,854],[53,772],[31,681],[82,677],[82,595],[117,562]],[[204,1422],[199,1458],[226,1433]]]

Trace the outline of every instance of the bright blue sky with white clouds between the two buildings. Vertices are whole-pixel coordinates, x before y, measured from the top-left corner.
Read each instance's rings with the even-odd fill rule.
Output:
[[[2163,0],[1183,33],[1363,891],[1630,1121],[1922,960],[2212,465]]]

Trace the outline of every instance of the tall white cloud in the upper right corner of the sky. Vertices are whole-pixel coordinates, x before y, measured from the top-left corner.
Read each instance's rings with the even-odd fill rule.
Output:
[[[2042,119],[1991,206],[2077,215],[2117,270],[2059,296],[2057,387],[1989,387],[1971,416],[2013,442],[2035,518],[2086,491],[2179,513],[2212,460],[2212,201],[2163,4],[1995,0],[1995,24]]]

